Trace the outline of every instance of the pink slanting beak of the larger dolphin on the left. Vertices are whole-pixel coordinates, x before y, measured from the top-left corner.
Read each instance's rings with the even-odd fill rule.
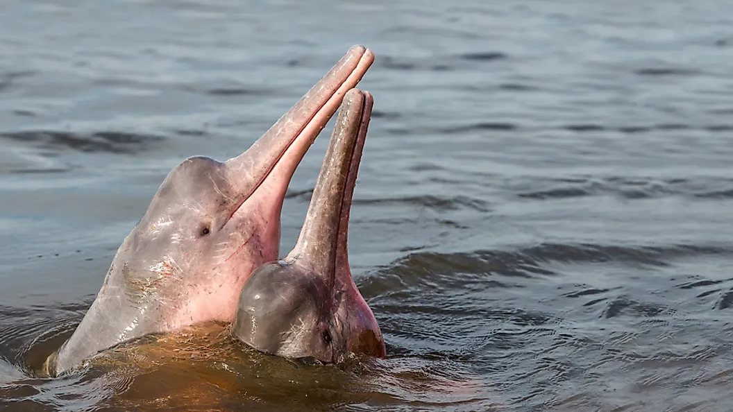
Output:
[[[358,84],[374,62],[374,54],[355,45],[295,106],[246,152],[226,161],[229,181],[246,185],[231,215],[265,180],[282,197],[295,168],[321,130],[334,116],[344,95]],[[230,215],[230,216],[231,216]]]

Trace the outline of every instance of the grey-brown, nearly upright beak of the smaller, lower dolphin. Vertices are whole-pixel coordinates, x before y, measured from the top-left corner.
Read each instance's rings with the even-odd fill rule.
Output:
[[[323,160],[298,243],[286,260],[305,258],[334,287],[336,268],[347,263],[351,199],[374,99],[352,89],[345,95]]]

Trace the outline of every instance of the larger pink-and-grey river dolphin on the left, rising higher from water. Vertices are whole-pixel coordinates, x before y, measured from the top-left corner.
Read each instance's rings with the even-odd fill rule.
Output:
[[[188,158],[173,169],[43,372],[57,376],[147,334],[231,322],[248,276],[279,256],[281,208],[295,168],[373,61],[372,51],[354,46],[246,152],[226,162]]]

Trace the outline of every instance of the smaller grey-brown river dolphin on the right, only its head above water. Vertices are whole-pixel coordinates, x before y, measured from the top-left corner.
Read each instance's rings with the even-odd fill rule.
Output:
[[[285,358],[339,363],[386,356],[377,320],[354,284],[347,232],[373,99],[347,92],[295,248],[257,268],[240,294],[232,335]]]

